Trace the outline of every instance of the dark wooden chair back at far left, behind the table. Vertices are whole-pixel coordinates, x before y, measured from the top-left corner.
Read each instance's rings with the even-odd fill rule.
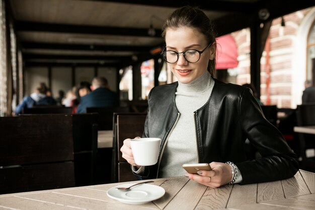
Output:
[[[75,186],[70,116],[0,117],[0,130],[0,194]]]

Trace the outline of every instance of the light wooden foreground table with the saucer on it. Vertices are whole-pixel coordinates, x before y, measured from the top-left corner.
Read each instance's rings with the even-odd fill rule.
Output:
[[[0,209],[314,209],[315,173],[300,170],[292,178],[213,189],[186,177],[155,179],[166,194],[149,203],[125,204],[106,195],[118,185],[103,184],[0,195]],[[139,182],[139,181],[135,181]],[[121,183],[119,183],[121,184]]]

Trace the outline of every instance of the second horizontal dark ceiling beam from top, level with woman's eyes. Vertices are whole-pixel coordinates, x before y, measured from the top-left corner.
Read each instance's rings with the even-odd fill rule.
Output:
[[[99,44],[57,44],[45,42],[22,42],[25,49],[54,49],[54,50],[88,50],[88,51],[149,51],[156,46],[130,45],[99,45]]]

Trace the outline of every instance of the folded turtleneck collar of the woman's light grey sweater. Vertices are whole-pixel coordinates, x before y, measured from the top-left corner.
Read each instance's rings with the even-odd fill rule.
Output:
[[[188,84],[178,82],[177,94],[201,93],[209,89],[211,84],[211,75],[208,71],[202,74],[199,78]]]

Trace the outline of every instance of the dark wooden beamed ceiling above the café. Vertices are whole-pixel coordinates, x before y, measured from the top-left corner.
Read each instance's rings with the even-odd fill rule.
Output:
[[[162,23],[178,7],[199,6],[224,35],[315,6],[315,1],[10,0],[9,5],[26,66],[121,68],[159,51]],[[270,15],[264,20],[259,14],[266,11]]]

